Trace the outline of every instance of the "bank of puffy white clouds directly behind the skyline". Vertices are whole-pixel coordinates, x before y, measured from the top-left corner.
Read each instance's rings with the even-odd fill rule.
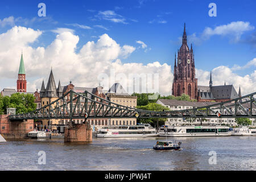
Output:
[[[0,45],[0,79],[16,79],[20,52],[23,49],[26,76],[32,78],[27,85],[29,92],[34,92],[36,88],[40,89],[43,79],[46,84],[52,67],[56,82],[72,81],[76,86],[85,87],[96,87],[99,82],[97,76],[101,73],[110,75],[112,69],[115,73],[121,73],[127,77],[130,73],[156,73],[159,74],[160,94],[171,94],[173,79],[171,65],[160,64],[158,61],[148,64],[122,63],[122,58],[129,57],[136,48],[126,44],[121,46],[108,34],[101,35],[96,42],[85,43],[80,50],[77,50],[79,36],[74,35],[73,31],[61,29],[56,33],[56,38],[45,48],[31,47],[31,43],[36,42],[43,34],[40,30],[15,26],[0,34],[2,43]],[[241,67],[245,69],[255,67],[255,60],[256,58]],[[234,72],[233,68],[220,66],[213,69],[212,76],[214,85],[223,85],[226,81],[227,84],[233,84],[236,89],[241,85],[242,94],[255,92],[255,70],[240,76]],[[196,69],[196,77],[199,78],[199,85],[209,85],[208,71]],[[111,84],[105,85],[105,89],[109,86]]]

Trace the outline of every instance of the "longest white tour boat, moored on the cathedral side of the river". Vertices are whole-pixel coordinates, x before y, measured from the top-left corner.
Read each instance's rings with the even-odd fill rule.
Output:
[[[159,132],[160,137],[216,137],[231,134],[227,126],[165,126]]]

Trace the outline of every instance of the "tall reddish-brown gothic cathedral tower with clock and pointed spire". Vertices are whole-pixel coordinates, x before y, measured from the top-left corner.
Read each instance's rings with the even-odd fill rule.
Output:
[[[197,99],[197,78],[195,72],[195,59],[192,49],[187,45],[187,35],[184,24],[182,46],[176,53],[174,63],[174,82],[172,84],[172,95],[181,96],[187,94],[191,99]]]

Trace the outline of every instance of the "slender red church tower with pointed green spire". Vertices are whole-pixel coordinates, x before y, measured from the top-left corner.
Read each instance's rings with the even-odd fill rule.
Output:
[[[26,73],[23,61],[23,54],[20,58],[19,64],[19,73],[18,73],[18,80],[17,80],[17,92],[27,92],[27,80],[26,80]]]

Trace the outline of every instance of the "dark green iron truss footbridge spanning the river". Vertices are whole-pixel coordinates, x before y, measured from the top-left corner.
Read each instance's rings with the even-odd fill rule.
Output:
[[[150,111],[115,104],[92,93],[73,90],[46,106],[29,113],[9,115],[10,121],[23,119],[88,118],[256,118],[256,92],[234,100],[193,109]]]

